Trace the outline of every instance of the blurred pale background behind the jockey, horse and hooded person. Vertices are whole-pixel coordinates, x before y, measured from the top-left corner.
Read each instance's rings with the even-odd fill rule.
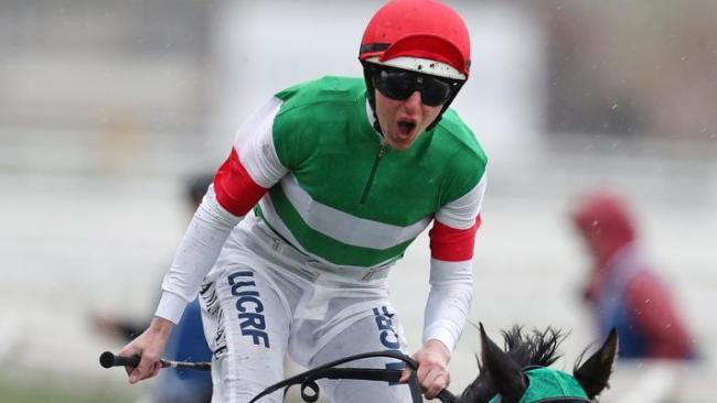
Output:
[[[186,179],[213,172],[275,91],[361,75],[381,3],[0,2],[0,402],[151,401],[150,384],[98,367],[125,341],[94,315],[149,318],[189,220]],[[558,366],[571,369],[599,336],[569,213],[609,188],[700,359],[662,396],[672,369],[621,362],[602,401],[717,401],[717,2],[448,3],[472,37],[454,109],[490,157],[471,320],[494,338],[569,330]],[[427,279],[424,235],[392,274],[414,348]],[[477,351],[469,326],[451,390],[475,377]]]

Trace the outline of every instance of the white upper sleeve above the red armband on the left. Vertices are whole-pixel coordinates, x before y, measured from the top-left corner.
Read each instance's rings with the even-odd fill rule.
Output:
[[[234,140],[242,165],[264,188],[274,186],[288,171],[281,165],[274,145],[274,118],[281,104],[279,98],[269,99],[242,124]]]

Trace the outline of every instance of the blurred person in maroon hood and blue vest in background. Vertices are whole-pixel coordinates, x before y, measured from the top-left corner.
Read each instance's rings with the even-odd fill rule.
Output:
[[[670,295],[636,242],[625,204],[607,193],[589,195],[571,213],[592,258],[584,290],[602,336],[620,335],[622,359],[688,359],[692,337]]]

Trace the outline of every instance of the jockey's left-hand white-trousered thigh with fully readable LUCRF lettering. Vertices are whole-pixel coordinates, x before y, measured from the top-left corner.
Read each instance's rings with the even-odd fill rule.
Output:
[[[200,292],[204,334],[213,351],[212,402],[245,403],[283,378],[287,304],[250,255],[217,260]],[[261,402],[281,402],[281,392]]]

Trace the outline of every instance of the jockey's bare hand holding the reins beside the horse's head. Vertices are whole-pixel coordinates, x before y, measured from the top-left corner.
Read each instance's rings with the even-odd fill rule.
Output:
[[[448,361],[451,353],[446,346],[435,339],[424,342],[424,347],[413,356],[418,362],[418,381],[426,399],[434,399],[450,384]],[[408,382],[410,369],[406,367],[400,382]]]

